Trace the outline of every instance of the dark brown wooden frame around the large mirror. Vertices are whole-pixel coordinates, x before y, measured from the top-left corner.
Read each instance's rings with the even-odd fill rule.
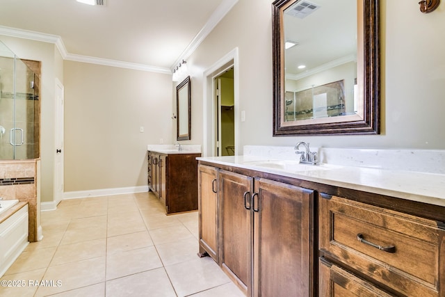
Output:
[[[379,0],[363,1],[363,24],[357,24],[357,35],[363,36],[363,48],[357,49],[357,81],[364,100],[363,120],[282,125],[284,100],[284,45],[282,37],[283,10],[297,0],[276,0],[272,3],[273,44],[273,136],[380,134],[380,15]],[[362,29],[362,30],[361,30]],[[361,32],[362,31],[362,32]],[[360,52],[359,52],[360,51]]]

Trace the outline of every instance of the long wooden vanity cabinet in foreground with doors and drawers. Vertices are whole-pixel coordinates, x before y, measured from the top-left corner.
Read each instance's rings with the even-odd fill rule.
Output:
[[[200,159],[200,255],[246,296],[445,296],[445,207]]]

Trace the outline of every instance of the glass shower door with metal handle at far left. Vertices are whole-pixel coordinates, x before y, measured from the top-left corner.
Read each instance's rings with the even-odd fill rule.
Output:
[[[38,77],[0,42],[0,159],[34,159]],[[38,143],[37,143],[38,145]],[[36,153],[37,152],[37,156]]]

